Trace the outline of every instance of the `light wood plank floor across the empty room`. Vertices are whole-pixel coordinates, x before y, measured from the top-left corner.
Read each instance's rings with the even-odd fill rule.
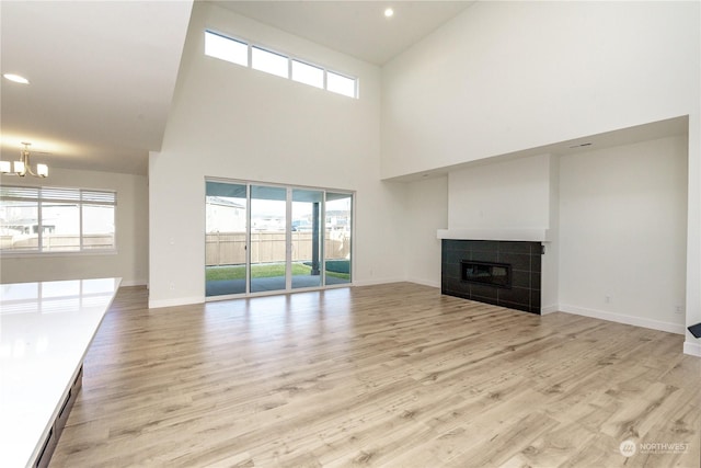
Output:
[[[696,468],[681,349],[409,283],[152,310],[128,287],[51,466]]]

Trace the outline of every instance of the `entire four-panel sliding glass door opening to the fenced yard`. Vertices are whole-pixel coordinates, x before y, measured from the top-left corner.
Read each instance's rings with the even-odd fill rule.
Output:
[[[206,295],[350,283],[353,194],[206,182]]]

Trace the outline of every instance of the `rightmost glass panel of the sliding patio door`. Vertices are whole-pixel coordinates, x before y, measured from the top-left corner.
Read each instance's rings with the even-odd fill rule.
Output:
[[[350,283],[353,195],[326,192],[324,277],[326,285]]]

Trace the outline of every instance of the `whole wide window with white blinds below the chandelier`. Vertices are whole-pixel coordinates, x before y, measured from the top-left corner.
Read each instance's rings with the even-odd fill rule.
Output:
[[[0,252],[114,251],[116,205],[110,191],[0,186]]]

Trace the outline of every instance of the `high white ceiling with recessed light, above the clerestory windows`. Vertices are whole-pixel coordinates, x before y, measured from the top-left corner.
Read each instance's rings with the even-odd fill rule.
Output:
[[[334,50],[384,65],[474,1],[212,1]],[[392,8],[394,15],[384,16]]]

